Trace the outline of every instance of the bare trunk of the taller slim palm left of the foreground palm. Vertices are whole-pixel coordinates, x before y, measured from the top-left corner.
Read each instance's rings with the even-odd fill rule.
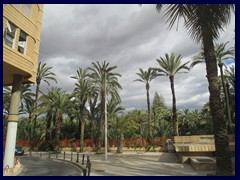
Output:
[[[175,97],[175,89],[174,89],[174,77],[170,76],[169,79],[170,79],[171,90],[172,90],[173,135],[174,136],[179,136],[178,121],[177,121],[176,97]]]

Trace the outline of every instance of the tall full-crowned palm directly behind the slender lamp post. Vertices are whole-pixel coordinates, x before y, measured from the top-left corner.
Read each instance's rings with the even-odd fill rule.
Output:
[[[117,66],[109,67],[109,63],[104,61],[102,64],[99,62],[92,63],[93,67],[88,69],[91,71],[90,78],[92,79],[95,87],[99,93],[100,98],[100,122],[99,122],[99,134],[97,140],[97,152],[100,152],[101,143],[103,141],[103,124],[105,118],[105,101],[107,97],[105,95],[110,94],[111,97],[120,99],[118,89],[121,89],[121,85],[118,82],[118,77],[121,77],[119,73],[113,72]],[[106,91],[105,91],[106,90]]]

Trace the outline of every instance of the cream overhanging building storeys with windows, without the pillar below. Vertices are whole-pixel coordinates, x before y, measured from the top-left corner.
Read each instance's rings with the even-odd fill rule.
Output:
[[[3,85],[12,85],[14,74],[36,81],[42,16],[42,4],[3,5]]]

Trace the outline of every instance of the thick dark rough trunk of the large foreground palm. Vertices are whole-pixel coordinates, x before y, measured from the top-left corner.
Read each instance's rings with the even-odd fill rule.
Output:
[[[232,175],[231,152],[228,141],[228,133],[221,106],[220,91],[217,79],[217,60],[214,53],[212,37],[208,36],[208,30],[203,31],[204,56],[206,61],[207,79],[210,93],[210,109],[213,119],[215,149],[216,149],[216,175]]]

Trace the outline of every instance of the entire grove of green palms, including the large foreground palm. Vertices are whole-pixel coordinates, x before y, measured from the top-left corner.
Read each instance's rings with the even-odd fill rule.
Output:
[[[163,6],[165,9],[162,9]],[[17,138],[29,140],[32,149],[54,151],[60,150],[61,139],[80,139],[80,151],[83,151],[84,139],[91,139],[92,146],[100,151],[106,100],[108,139],[117,140],[117,152],[122,152],[124,137],[144,137],[151,143],[151,138],[156,136],[214,134],[217,175],[231,175],[227,135],[235,133],[235,68],[223,67],[224,60],[234,59],[234,49],[226,49],[226,43],[215,45],[214,41],[218,39],[220,30],[229,23],[234,6],[157,4],[156,9],[158,12],[165,11],[170,29],[182,17],[188,34],[202,45],[202,52],[193,57],[191,62],[185,63],[181,55],[166,53],[156,60],[158,65],[155,67],[136,72],[138,77],[134,83],[145,84],[147,111],[124,111],[119,96],[121,85],[118,80],[121,74],[117,73],[117,66],[111,66],[106,61],[93,62],[88,68],[76,69],[76,75],[71,77],[75,80],[72,93],[51,86],[53,82],[57,83],[52,67],[39,63],[36,92],[31,91],[31,85],[22,87],[20,113],[27,116],[19,122]],[[196,68],[198,63],[206,64],[209,102],[201,110],[178,110],[174,77]],[[158,92],[150,102],[150,82],[155,78],[160,82],[163,76],[169,78],[171,108],[166,106],[164,97]],[[41,91],[42,83],[49,85],[47,93]],[[4,87],[3,93],[5,128],[11,89]]]

